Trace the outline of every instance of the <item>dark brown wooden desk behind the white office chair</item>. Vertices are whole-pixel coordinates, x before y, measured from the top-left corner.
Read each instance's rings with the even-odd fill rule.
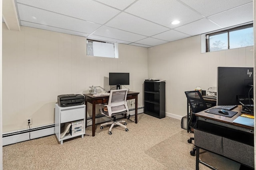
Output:
[[[126,100],[135,99],[135,123],[138,123],[138,94],[139,92],[130,92],[128,91]],[[109,96],[93,96],[93,94],[84,94],[85,96],[85,115],[86,115],[86,124],[87,127],[87,102],[92,104],[92,136],[95,136],[95,106],[96,104],[108,103]],[[126,118],[126,114],[124,116]]]

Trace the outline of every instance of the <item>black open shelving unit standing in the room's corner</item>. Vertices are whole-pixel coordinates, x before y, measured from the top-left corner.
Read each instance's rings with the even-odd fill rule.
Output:
[[[159,119],[165,117],[165,82],[144,81],[144,113]]]

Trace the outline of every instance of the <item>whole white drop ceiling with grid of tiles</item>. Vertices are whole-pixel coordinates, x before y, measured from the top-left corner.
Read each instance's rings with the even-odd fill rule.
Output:
[[[253,21],[252,0],[15,0],[20,25],[153,47]],[[172,25],[174,20],[180,20]]]

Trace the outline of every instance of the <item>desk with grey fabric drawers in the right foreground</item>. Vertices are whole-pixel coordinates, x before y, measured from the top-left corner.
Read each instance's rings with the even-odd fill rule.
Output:
[[[195,114],[197,117],[194,127],[196,170],[199,170],[199,163],[209,167],[208,164],[199,160],[199,149],[254,167],[254,127],[232,122],[242,114],[241,110],[242,106],[234,108],[232,111],[238,113],[233,117],[204,111]]]

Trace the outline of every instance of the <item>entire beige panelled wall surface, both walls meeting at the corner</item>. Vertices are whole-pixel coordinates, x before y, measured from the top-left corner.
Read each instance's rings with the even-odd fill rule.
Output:
[[[119,44],[119,58],[86,56],[86,38],[3,24],[3,132],[54,123],[60,94],[87,93],[89,86],[106,86],[108,72],[130,72],[132,91],[140,92],[146,78],[166,80],[166,113],[186,115],[184,91],[216,86],[218,66],[254,66],[253,47],[201,53],[201,36],[149,49]],[[88,106],[91,113],[91,106]],[[89,115],[90,116],[90,115]]]

